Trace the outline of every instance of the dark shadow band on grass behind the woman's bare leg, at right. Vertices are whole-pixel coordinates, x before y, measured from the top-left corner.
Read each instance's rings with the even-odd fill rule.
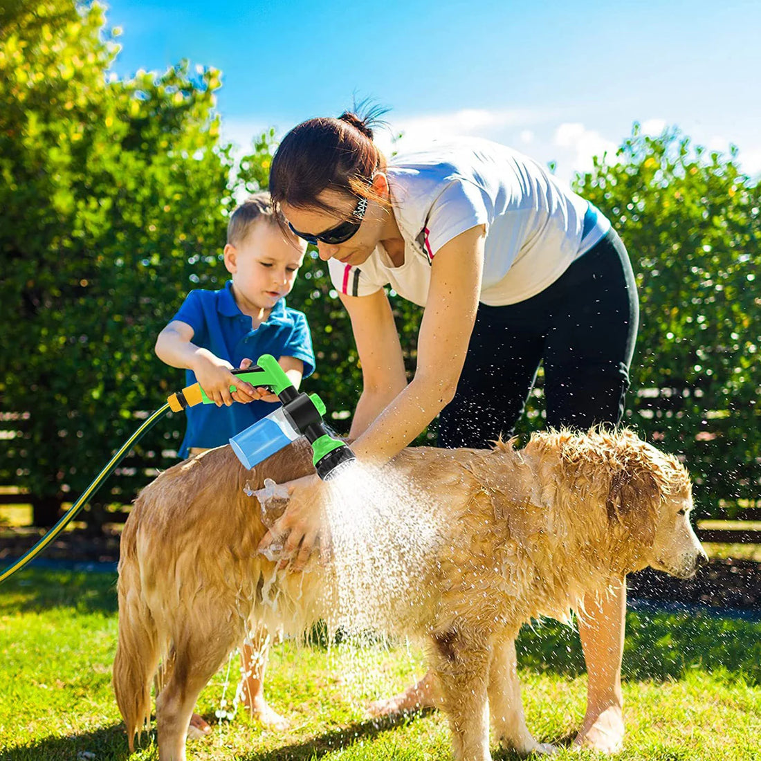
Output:
[[[524,627],[517,653],[521,667],[572,677],[584,673],[578,632],[558,622]],[[692,667],[761,684],[761,623],[708,613],[627,613],[625,679],[679,679]]]

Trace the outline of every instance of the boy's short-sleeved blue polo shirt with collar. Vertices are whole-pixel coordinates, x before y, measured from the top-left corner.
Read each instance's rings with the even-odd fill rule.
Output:
[[[193,343],[209,349],[234,368],[244,358],[254,363],[263,354],[275,359],[295,357],[304,362],[304,377],[314,371],[314,352],[307,317],[303,312],[285,306],[281,298],[272,307],[269,317],[256,330],[251,318],[235,303],[232,281],[220,291],[190,291],[172,320],[180,320],[193,328]],[[196,383],[196,374],[186,371],[186,385]],[[190,447],[219,447],[231,436],[269,415],[278,405],[272,402],[233,403],[218,407],[198,404],[186,409],[187,429],[180,457],[187,457]]]

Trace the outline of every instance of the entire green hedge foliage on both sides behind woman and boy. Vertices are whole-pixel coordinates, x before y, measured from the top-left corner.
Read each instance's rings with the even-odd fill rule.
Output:
[[[234,161],[219,142],[221,74],[181,62],[119,81],[108,73],[118,30],[104,24],[102,7],[74,0],[0,7],[0,412],[17,434],[0,484],[49,505],[43,521],[181,386],[182,372],[154,357],[155,337],[190,289],[228,277]],[[272,130],[253,142],[242,188],[266,187],[274,148]],[[628,421],[685,455],[705,511],[756,498],[761,186],[734,153],[636,128],[615,163],[597,160],[577,185],[621,232],[642,298]],[[390,298],[411,377],[422,310]],[[316,252],[288,302],[313,331],[308,390],[346,433],[361,368]],[[540,407],[539,392],[521,431],[542,425]],[[174,416],[151,431],[101,499],[131,497],[148,465],[172,463],[183,427]]]

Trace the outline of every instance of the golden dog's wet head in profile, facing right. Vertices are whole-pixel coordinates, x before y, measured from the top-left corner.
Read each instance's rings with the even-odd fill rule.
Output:
[[[628,431],[620,467],[610,480],[608,521],[620,527],[637,556],[679,578],[690,578],[708,562],[689,522],[693,489],[686,468]],[[634,568],[632,568],[634,570]]]

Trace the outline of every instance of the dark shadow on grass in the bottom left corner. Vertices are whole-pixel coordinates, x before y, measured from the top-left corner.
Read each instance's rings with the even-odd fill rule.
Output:
[[[111,724],[72,737],[47,737],[35,743],[0,750],[2,761],[72,761],[79,753],[94,753],[98,761],[129,758],[124,724]],[[83,756],[84,757],[84,756]]]

